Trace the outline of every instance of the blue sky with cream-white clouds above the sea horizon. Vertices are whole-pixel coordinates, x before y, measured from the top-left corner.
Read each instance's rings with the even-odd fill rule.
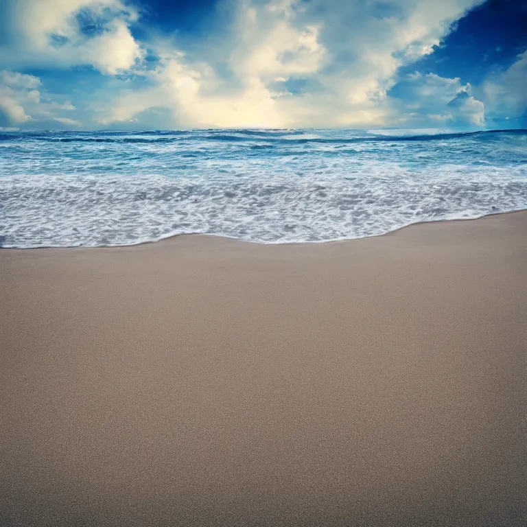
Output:
[[[0,128],[527,128],[527,0],[1,0]]]

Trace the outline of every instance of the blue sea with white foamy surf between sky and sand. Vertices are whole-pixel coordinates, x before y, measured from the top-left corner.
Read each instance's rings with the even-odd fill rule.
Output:
[[[527,209],[527,130],[0,131],[0,245],[379,235]]]

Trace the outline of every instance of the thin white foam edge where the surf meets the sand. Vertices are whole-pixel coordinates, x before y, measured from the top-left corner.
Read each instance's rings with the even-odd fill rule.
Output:
[[[150,244],[159,244],[159,243],[165,243],[170,242],[171,240],[174,241],[180,237],[211,237],[211,238],[220,238],[220,239],[226,239],[226,240],[233,240],[235,242],[242,242],[244,244],[255,244],[255,245],[270,245],[270,246],[297,246],[297,245],[322,245],[322,244],[339,244],[339,243],[347,243],[347,242],[355,242],[357,240],[361,239],[370,239],[370,238],[379,238],[379,237],[385,237],[394,235],[395,233],[398,233],[399,231],[403,231],[404,229],[409,229],[414,226],[420,226],[420,225],[430,225],[430,224],[443,224],[443,223],[450,223],[450,222],[477,222],[480,220],[484,220],[485,218],[493,218],[495,216],[502,216],[502,215],[510,215],[510,214],[527,214],[527,209],[515,209],[513,211],[504,211],[504,212],[493,212],[489,214],[484,214],[482,216],[478,216],[477,218],[454,218],[452,220],[427,220],[427,221],[421,221],[421,222],[415,222],[410,223],[408,225],[403,225],[401,227],[397,227],[397,229],[393,229],[393,231],[388,231],[386,233],[377,234],[377,235],[368,235],[358,238],[342,238],[342,239],[329,239],[329,240],[312,240],[312,241],[303,241],[303,242],[255,242],[253,240],[248,239],[241,239],[236,237],[229,237],[221,234],[209,234],[209,233],[183,233],[183,234],[175,234],[175,235],[167,235],[166,237],[154,239],[152,241],[148,242],[137,242],[134,244],[126,244],[126,245],[99,245],[99,246],[36,246],[36,247],[4,247],[0,246],[1,250],[36,250],[36,249],[112,249],[112,248],[126,248],[126,247],[137,247],[137,246],[143,246],[143,245],[150,245]]]

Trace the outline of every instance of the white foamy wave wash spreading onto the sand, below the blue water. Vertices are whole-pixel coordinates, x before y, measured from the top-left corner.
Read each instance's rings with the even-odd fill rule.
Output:
[[[0,235],[11,247],[117,246],[196,233],[329,242],[526,209],[527,178],[520,169],[447,165],[411,174],[387,163],[357,177],[12,176],[0,178],[0,202]]]

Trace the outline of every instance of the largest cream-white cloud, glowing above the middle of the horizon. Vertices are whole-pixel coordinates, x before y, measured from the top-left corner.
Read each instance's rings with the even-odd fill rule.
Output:
[[[221,49],[189,63],[162,46],[155,86],[124,91],[99,108],[99,121],[130,121],[161,105],[189,127],[383,126],[393,117],[387,91],[397,69],[430,53],[449,24],[479,1],[398,0],[386,4],[395,10],[386,16],[369,0],[241,1]],[[216,73],[218,58],[228,78]],[[318,89],[277,90],[277,82],[296,78]]]

